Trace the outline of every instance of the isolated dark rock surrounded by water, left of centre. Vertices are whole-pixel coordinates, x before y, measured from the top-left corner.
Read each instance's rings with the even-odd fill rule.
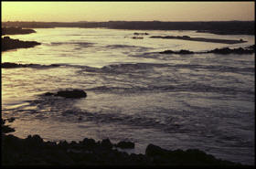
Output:
[[[57,93],[47,92],[45,96],[60,96],[64,98],[86,98],[87,94],[84,90],[61,90]]]

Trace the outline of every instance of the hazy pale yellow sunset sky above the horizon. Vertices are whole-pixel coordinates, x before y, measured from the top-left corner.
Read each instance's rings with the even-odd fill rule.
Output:
[[[254,20],[254,2],[3,2],[2,21]]]

